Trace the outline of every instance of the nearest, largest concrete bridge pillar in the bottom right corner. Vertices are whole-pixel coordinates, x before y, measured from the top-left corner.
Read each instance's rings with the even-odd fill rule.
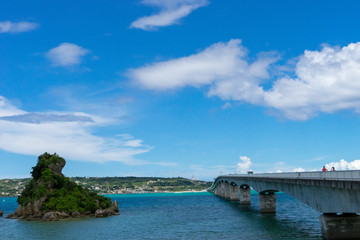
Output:
[[[356,213],[324,213],[319,221],[323,239],[360,239],[360,216]]]

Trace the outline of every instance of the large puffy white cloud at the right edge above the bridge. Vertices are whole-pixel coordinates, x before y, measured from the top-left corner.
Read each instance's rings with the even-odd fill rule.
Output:
[[[360,110],[360,42],[343,48],[305,51],[296,77],[277,80],[264,94],[265,105],[285,117],[306,120],[319,112]]]

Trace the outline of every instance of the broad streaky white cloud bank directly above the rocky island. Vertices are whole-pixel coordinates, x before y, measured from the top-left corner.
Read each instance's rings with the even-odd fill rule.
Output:
[[[88,162],[154,164],[135,158],[151,149],[140,139],[129,134],[104,138],[91,133],[92,128],[109,123],[107,119],[85,113],[42,113],[35,115],[34,122],[29,114],[0,97],[0,116],[8,117],[0,119],[0,149],[27,155],[56,152],[66,159]],[[19,121],[21,115],[25,118]]]

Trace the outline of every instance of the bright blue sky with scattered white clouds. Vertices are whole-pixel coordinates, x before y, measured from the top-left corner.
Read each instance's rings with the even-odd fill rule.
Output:
[[[0,178],[360,169],[357,0],[2,1]]]

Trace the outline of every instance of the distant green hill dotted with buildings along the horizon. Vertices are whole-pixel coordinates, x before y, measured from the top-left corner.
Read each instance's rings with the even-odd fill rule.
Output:
[[[71,177],[71,181],[98,194],[205,191],[212,182],[161,177]],[[19,196],[30,178],[1,179],[0,197]]]

